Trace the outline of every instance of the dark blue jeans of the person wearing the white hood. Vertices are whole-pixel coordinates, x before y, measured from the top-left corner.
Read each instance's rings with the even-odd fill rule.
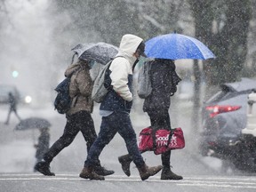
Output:
[[[101,151],[114,138],[116,132],[124,139],[126,148],[130,156],[132,156],[134,164],[136,164],[138,168],[145,164],[137,146],[136,133],[132,128],[129,114],[115,111],[110,116],[102,116],[99,136],[90,148],[87,159],[84,162],[84,167],[95,166]]]

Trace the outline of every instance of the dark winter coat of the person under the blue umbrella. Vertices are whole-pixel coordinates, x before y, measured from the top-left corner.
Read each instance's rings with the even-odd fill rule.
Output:
[[[168,109],[171,105],[171,96],[177,91],[180,77],[175,72],[172,60],[150,61],[150,79],[152,92],[144,100],[143,111]]]

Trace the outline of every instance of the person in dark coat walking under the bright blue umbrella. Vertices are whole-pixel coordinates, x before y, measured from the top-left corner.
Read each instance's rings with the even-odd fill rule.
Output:
[[[149,61],[150,81],[152,92],[144,100],[143,111],[148,113],[151,126],[154,129],[171,130],[169,108],[171,96],[177,91],[180,77],[176,74],[173,60],[156,59]],[[119,163],[127,176],[130,176],[130,164],[132,157],[129,155],[119,156]],[[171,151],[161,154],[163,170],[161,180],[182,180],[180,175],[171,171]]]

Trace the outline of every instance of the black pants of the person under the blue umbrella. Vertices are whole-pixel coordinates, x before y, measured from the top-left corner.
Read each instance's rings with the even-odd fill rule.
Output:
[[[168,109],[163,110],[152,110],[148,111],[148,116],[150,118],[151,126],[157,126],[161,129],[171,129],[171,120],[168,113]],[[167,151],[161,155],[162,165],[164,169],[170,169],[171,163],[171,151]]]

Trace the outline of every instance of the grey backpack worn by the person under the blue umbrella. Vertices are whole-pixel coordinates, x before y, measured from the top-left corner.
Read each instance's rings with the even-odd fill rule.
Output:
[[[151,62],[145,62],[140,68],[138,76],[138,95],[141,99],[145,99],[152,92],[150,80]]]

